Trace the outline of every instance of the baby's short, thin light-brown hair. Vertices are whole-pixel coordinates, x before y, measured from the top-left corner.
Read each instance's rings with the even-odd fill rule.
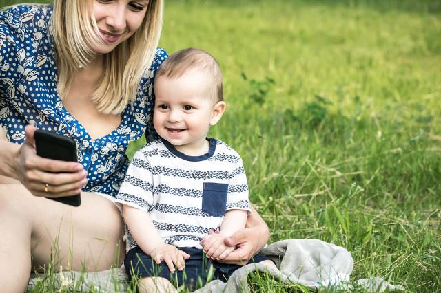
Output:
[[[178,78],[190,69],[196,69],[207,74],[212,80],[210,96],[216,102],[223,101],[223,78],[220,65],[212,55],[200,49],[187,48],[173,53],[161,64],[158,72],[156,72],[155,79],[160,76]]]

